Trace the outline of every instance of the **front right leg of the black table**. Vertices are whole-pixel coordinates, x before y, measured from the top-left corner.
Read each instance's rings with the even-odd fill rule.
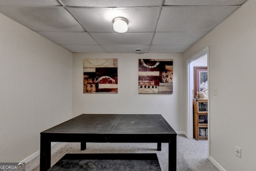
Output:
[[[177,157],[177,147],[176,147],[176,136],[170,139],[169,143],[169,171],[176,171],[176,157]]]

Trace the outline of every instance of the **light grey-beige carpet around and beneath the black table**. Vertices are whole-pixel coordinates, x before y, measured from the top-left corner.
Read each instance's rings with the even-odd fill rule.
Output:
[[[86,150],[80,150],[80,143],[57,143],[52,147],[51,165],[66,153],[156,153],[162,171],[168,171],[168,143],[162,143],[162,151],[156,150],[156,143],[86,143]],[[39,171],[40,157],[26,163],[26,171]],[[188,139],[177,135],[177,171],[218,171],[208,160],[208,142]]]

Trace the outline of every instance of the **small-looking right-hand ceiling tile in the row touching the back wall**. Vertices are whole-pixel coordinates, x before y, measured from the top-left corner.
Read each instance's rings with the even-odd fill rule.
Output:
[[[156,46],[152,45],[149,52],[152,53],[183,53],[191,45],[168,45],[168,46]]]

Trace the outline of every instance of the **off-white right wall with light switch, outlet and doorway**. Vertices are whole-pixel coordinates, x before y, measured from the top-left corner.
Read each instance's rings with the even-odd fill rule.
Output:
[[[184,53],[185,61],[209,46],[210,159],[220,170],[256,170],[255,11],[249,0]]]

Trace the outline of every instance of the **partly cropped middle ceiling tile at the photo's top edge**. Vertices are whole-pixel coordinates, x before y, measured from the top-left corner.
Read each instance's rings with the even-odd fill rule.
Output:
[[[160,6],[161,0],[62,0],[66,6],[134,7]]]

